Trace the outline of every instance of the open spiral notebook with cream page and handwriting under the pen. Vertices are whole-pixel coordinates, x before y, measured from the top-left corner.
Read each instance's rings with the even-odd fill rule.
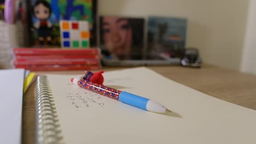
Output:
[[[104,85],[158,101],[179,116],[132,107],[74,86],[73,75],[37,78],[37,143],[255,143],[256,111],[141,67],[103,73]]]

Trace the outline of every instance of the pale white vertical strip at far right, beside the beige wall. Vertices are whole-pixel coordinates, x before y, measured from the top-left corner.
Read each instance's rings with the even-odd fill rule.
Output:
[[[241,70],[256,75],[256,1],[249,1],[248,20]]]

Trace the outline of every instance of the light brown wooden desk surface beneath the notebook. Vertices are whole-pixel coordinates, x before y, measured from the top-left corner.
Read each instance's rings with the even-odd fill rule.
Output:
[[[230,103],[256,110],[256,76],[238,71],[203,65],[200,69],[181,66],[148,67],[168,79],[182,83]],[[104,68],[104,71],[121,68]],[[124,68],[123,68],[124,69]],[[38,74],[83,74],[83,71],[44,71]],[[22,142],[34,143],[35,125],[35,83],[24,97],[22,116]]]

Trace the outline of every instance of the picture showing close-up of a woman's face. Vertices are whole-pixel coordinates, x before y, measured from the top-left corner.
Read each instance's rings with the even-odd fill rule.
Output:
[[[101,16],[100,47],[115,59],[141,59],[144,41],[144,19]]]

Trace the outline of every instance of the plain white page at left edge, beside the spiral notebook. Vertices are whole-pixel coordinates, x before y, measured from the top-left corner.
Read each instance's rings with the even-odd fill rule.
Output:
[[[21,143],[24,69],[0,70],[0,143]]]

